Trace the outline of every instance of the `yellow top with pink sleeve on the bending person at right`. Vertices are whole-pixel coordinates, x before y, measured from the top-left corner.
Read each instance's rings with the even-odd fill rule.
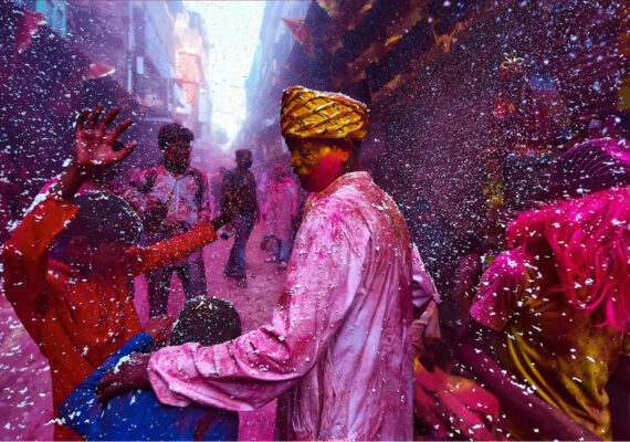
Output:
[[[548,290],[537,269],[525,265],[521,251],[501,254],[485,272],[471,316],[502,333],[496,357],[503,368],[535,387],[536,393],[605,440],[612,439],[605,386],[619,358],[630,355],[630,337],[601,318],[567,306]],[[543,283],[546,281],[546,283]],[[516,439],[538,440],[535,422],[507,414]]]

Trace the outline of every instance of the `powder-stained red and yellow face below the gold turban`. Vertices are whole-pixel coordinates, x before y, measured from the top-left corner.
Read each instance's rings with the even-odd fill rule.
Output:
[[[339,178],[349,158],[348,150],[325,139],[288,138],[286,145],[291,151],[290,165],[300,185],[311,192],[319,192]]]

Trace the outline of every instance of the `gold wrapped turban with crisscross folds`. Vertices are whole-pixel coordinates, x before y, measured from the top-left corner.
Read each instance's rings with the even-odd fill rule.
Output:
[[[345,95],[302,86],[290,87],[282,95],[283,137],[363,139],[368,125],[367,106]]]

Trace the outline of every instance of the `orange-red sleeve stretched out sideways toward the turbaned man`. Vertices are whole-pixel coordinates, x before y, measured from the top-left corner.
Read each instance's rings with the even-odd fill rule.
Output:
[[[134,245],[127,249],[123,265],[128,275],[141,275],[148,270],[166,267],[183,260],[192,252],[210,244],[217,239],[217,233],[208,222],[192,229],[190,232],[175,236],[171,240],[158,242],[149,248]]]

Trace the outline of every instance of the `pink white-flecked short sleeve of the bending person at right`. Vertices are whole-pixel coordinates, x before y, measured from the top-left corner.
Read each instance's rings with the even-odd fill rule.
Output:
[[[526,285],[527,272],[521,252],[502,253],[483,274],[471,316],[477,323],[501,332],[518,309]]]

